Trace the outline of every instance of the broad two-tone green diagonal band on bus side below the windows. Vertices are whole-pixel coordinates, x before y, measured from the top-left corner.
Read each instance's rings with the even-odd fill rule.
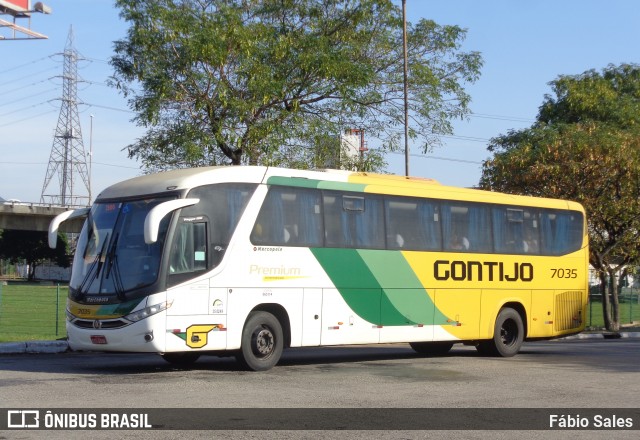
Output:
[[[311,251],[345,302],[362,319],[383,326],[446,322],[401,252]]]

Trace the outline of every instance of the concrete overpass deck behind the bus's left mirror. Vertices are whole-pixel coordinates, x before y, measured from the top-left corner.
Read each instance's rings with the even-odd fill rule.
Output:
[[[18,229],[22,231],[48,231],[53,218],[78,206],[52,206],[44,203],[0,202],[0,229]],[[62,223],[62,232],[80,232],[83,218]]]

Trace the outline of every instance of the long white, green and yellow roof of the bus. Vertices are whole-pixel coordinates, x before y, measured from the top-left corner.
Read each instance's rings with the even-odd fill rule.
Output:
[[[446,186],[433,179],[420,177],[344,170],[310,171],[263,166],[184,168],[148,174],[125,180],[106,188],[98,195],[97,200],[135,197],[146,194],[159,195],[223,182],[266,183],[270,185],[584,211],[582,206],[576,202]]]

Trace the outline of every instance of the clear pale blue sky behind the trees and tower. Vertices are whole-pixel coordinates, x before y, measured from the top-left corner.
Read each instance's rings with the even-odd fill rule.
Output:
[[[61,107],[60,54],[70,29],[85,58],[78,65],[78,111],[95,197],[142,174],[125,148],[144,129],[131,121],[126,99],[106,84],[113,74],[113,42],[125,36],[127,23],[113,0],[45,3],[53,13],[34,14],[30,26],[48,39],[0,39],[0,197],[40,201]],[[551,92],[549,82],[559,75],[640,62],[636,0],[407,0],[408,21],[421,18],[467,29],[463,50],[479,51],[484,59],[480,79],[465,87],[473,114],[456,121],[455,133],[431,152],[410,145],[410,174],[446,185],[477,185],[482,161],[490,157],[488,140],[530,126]],[[18,24],[29,26],[26,20]],[[369,148],[378,146],[367,141]],[[403,154],[390,154],[387,161],[386,171],[404,174]],[[47,193],[58,187],[52,180]],[[76,184],[74,192],[83,191]]]

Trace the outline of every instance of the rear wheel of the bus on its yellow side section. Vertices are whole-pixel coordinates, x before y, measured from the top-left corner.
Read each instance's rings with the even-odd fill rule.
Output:
[[[511,357],[520,351],[523,340],[522,317],[515,310],[505,308],[496,318],[493,339],[480,341],[476,348],[481,354]]]

